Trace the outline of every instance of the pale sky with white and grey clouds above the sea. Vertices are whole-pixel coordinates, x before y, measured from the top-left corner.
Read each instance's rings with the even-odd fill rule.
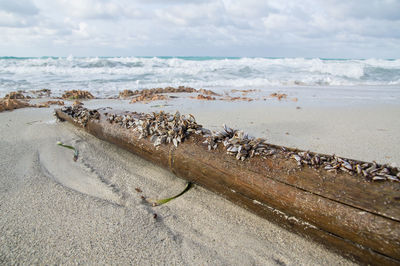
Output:
[[[400,58],[400,0],[0,0],[0,56]]]

